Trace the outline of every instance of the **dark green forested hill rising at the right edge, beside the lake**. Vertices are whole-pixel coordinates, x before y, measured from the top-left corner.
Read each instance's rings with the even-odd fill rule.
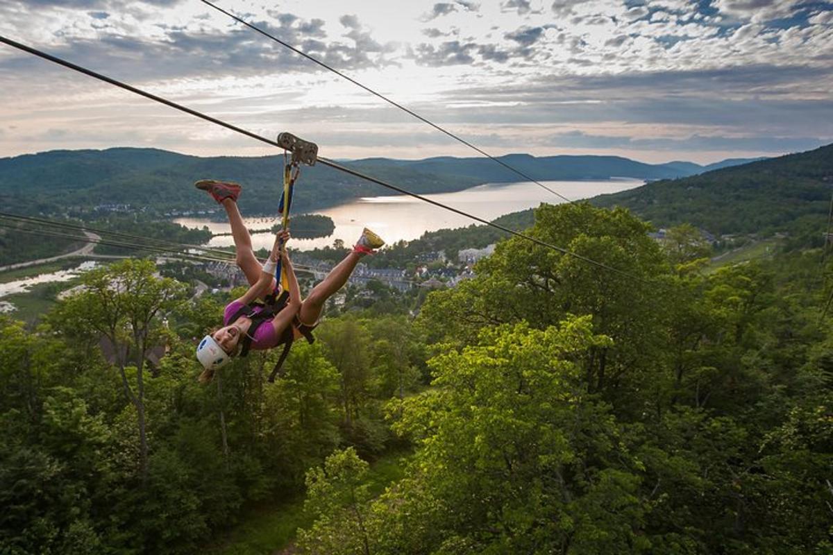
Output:
[[[625,206],[654,225],[691,223],[715,234],[823,230],[833,192],[833,145],[654,181],[613,195],[596,206]]]

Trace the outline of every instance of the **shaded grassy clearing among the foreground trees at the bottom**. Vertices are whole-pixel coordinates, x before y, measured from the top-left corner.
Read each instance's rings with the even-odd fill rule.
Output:
[[[393,451],[371,464],[368,483],[374,496],[381,495],[389,483],[402,478],[402,458],[407,458],[410,453]],[[207,548],[205,554],[272,555],[295,540],[298,528],[310,524],[312,518],[304,513],[303,493],[277,504],[262,503],[243,514],[242,523],[227,533],[222,546]]]

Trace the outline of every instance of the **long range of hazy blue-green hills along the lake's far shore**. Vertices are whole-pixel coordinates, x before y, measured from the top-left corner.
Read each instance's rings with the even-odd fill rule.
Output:
[[[82,216],[100,205],[141,206],[154,213],[206,208],[191,186],[202,178],[241,182],[242,210],[265,214],[277,206],[282,156],[199,157],[141,148],[104,151],[48,151],[0,159],[0,200],[20,212]],[[657,179],[691,175],[702,166],[671,162],[652,166],[616,156],[502,156],[502,161],[536,180],[606,179],[611,176]],[[519,181],[515,173],[486,158],[382,158],[345,162],[417,193],[459,191],[486,182]],[[361,196],[390,194],[325,166],[305,167],[295,204],[305,211]]]

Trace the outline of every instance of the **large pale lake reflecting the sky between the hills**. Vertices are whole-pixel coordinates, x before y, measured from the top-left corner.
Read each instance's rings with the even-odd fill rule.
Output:
[[[626,191],[641,186],[644,181],[635,179],[611,179],[605,181],[541,181],[552,191],[557,191],[571,201],[591,198],[596,195]],[[494,220],[498,216],[523,211],[546,202],[561,204],[564,202],[558,196],[546,191],[541,186],[531,182],[520,183],[488,183],[471,187],[464,191],[453,193],[438,193],[425,195],[432,201],[441,202],[447,206],[465,211],[484,220]],[[454,212],[433,206],[412,196],[372,196],[350,201],[342,205],[314,211],[312,214],[329,216],[336,225],[332,235],[318,239],[293,239],[292,248],[310,250],[332,245],[336,239],[344,241],[345,245],[352,245],[362,228],[367,226],[382,236],[387,243],[398,240],[413,240],[421,237],[426,231],[436,231],[443,228],[454,229],[466,227],[476,221],[460,216]],[[244,215],[245,216],[245,215]],[[213,233],[227,233],[228,224],[225,222],[208,221],[202,218],[177,218],[175,220],[187,227],[201,228],[206,225]],[[279,218],[244,218],[249,229],[266,229],[277,224]],[[292,230],[292,225],[290,225]],[[271,233],[252,235],[252,245],[255,250],[272,247]],[[233,245],[231,235],[214,237],[209,246]]]

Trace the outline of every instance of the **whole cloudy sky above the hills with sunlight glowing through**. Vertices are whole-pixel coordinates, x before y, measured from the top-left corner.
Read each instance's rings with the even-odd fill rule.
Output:
[[[494,156],[833,142],[833,2],[217,0]],[[0,35],[322,156],[479,156],[199,0],[0,0]],[[0,156],[274,149],[0,44]]]

